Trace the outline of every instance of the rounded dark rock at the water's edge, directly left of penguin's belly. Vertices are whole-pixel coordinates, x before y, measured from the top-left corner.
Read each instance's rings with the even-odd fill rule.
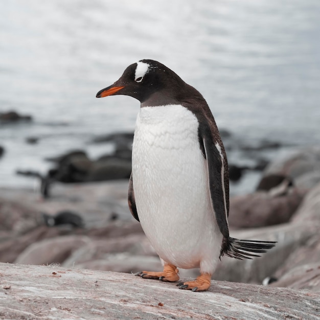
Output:
[[[131,161],[111,157],[95,162],[88,172],[86,181],[128,179],[130,174]]]

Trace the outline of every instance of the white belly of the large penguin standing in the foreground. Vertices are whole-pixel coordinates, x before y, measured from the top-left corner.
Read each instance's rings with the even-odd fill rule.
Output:
[[[140,109],[132,178],[141,225],[159,257],[180,268],[212,271],[222,235],[191,111],[180,105]]]

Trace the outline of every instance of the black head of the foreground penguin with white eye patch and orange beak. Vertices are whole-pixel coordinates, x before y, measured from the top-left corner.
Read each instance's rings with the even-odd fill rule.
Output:
[[[167,104],[172,103],[179,89],[186,86],[187,84],[164,64],[144,59],[129,65],[118,81],[100,90],[96,97],[125,95],[138,99],[141,103],[152,98],[151,104],[156,103],[155,101]]]

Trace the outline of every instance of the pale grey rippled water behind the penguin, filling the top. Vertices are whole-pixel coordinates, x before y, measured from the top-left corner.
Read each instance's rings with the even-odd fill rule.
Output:
[[[240,139],[320,142],[318,0],[5,0],[0,12],[0,112],[34,118],[0,125],[0,186],[30,186],[16,169],[44,172],[44,157],[74,148],[97,157],[110,148],[94,135],[133,130],[138,101],[95,95],[143,58],[195,86]]]

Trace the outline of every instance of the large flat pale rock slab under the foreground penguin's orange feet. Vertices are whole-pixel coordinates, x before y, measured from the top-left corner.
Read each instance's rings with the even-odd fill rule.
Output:
[[[208,292],[126,273],[0,263],[2,319],[319,319],[320,295],[212,281]]]

